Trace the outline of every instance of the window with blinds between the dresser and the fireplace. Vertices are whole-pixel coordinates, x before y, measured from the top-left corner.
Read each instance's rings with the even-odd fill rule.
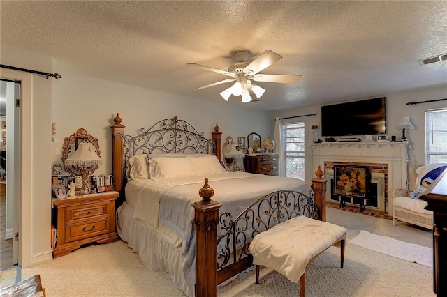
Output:
[[[284,172],[287,177],[305,179],[305,123],[283,125]]]

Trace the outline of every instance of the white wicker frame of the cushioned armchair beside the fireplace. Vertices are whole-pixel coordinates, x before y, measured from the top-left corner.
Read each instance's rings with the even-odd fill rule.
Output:
[[[411,211],[408,208],[395,206],[393,203],[396,197],[410,197],[410,192],[417,188],[416,178],[418,177],[418,174],[416,173],[416,169],[420,166],[423,165],[412,164],[409,167],[409,189],[397,188],[393,190],[392,200],[390,201],[390,205],[393,206],[393,225],[396,225],[397,221],[402,221],[416,224],[427,229],[433,229],[433,213],[431,211],[430,213],[419,213]]]

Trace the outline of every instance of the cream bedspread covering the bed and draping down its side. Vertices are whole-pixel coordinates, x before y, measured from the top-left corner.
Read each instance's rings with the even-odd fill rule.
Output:
[[[307,185],[300,179],[245,172],[134,183],[138,184],[140,192],[133,217],[154,227],[163,224],[182,238],[182,268],[186,280],[191,283],[194,281],[196,268],[196,233],[193,228],[194,210],[191,204],[200,201],[198,191],[202,188],[205,177],[214,189],[212,200],[222,204],[220,213],[228,211],[237,215],[257,199],[276,190],[295,190],[308,194]]]

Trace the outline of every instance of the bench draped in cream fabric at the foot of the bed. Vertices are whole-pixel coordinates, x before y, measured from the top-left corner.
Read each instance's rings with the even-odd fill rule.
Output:
[[[291,282],[300,281],[300,296],[305,296],[306,266],[319,254],[339,243],[344,263],[346,229],[319,220],[299,216],[254,236],[249,246],[256,264],[256,284],[261,265],[274,268]]]

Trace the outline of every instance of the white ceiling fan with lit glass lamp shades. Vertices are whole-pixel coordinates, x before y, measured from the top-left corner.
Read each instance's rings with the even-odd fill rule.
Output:
[[[201,90],[209,88],[210,86],[217,86],[219,84],[226,84],[228,82],[235,82],[235,84],[227,88],[225,91],[222,91],[220,93],[221,96],[227,101],[231,95],[242,96],[242,102],[247,103],[252,100],[250,94],[254,93],[256,95],[256,98],[261,98],[261,96],[263,96],[263,93],[265,92],[265,89],[261,88],[261,86],[251,84],[251,80],[254,80],[255,82],[279,82],[281,84],[298,84],[298,82],[300,82],[300,79],[302,78],[301,75],[270,75],[260,73],[262,70],[268,68],[268,66],[272,65],[274,62],[279,61],[282,58],[282,56],[275,52],[272,52],[271,50],[265,50],[265,52],[251,61],[251,63],[247,62],[249,57],[249,52],[235,52],[234,58],[237,63],[230,65],[230,67],[228,67],[228,71],[203,66],[196,63],[188,63],[187,65],[198,66],[205,70],[213,71],[215,73],[220,73],[231,77],[228,79],[223,79],[220,82],[214,82],[213,84],[200,86],[195,90]]]

